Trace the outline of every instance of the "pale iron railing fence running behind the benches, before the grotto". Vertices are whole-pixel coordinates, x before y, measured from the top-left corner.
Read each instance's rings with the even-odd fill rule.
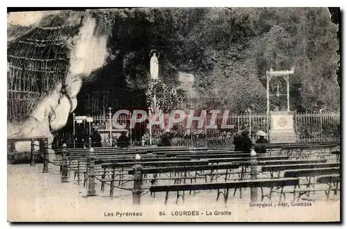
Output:
[[[142,137],[146,145],[158,145],[164,130],[160,126],[153,126],[151,131],[146,127],[148,122],[137,123],[130,128],[130,115],[120,114],[117,124],[125,124],[124,129],[119,129],[112,123],[112,114],[93,115],[91,126],[96,128],[102,138],[103,146],[112,146],[121,135],[122,131],[127,131],[132,146],[141,146]],[[193,122],[192,127],[185,128],[185,122],[175,124],[171,128],[171,144],[174,146],[203,146],[211,148],[232,147],[233,134],[239,131],[248,130],[251,139],[255,142],[258,130],[266,132],[266,114],[256,114],[248,112],[246,114],[228,114],[223,120],[223,114],[215,117],[217,128],[209,128],[212,115],[208,114],[202,128],[198,128],[197,122]],[[223,125],[230,125],[232,128],[223,128]],[[75,126],[76,133],[89,132],[89,123],[83,121]],[[340,114],[339,112],[305,112],[294,115],[294,128],[296,131],[296,142],[338,142],[341,136]],[[67,139],[69,135],[62,135]],[[110,137],[111,136],[111,137]],[[64,140],[64,141],[65,141]]]

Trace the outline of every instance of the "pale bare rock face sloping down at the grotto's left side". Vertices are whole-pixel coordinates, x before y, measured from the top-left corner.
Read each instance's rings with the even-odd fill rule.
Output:
[[[33,12],[35,14],[35,12]],[[31,12],[26,13],[29,17]],[[81,90],[83,80],[90,77],[92,71],[102,67],[107,56],[105,35],[97,35],[96,20],[87,13],[77,35],[69,40],[69,70],[67,75],[46,92],[35,106],[35,110],[26,120],[8,123],[8,138],[17,137],[49,137],[52,133],[64,127],[67,118],[77,105],[76,96]],[[24,22],[26,21],[24,17]],[[19,18],[16,23],[19,23]],[[33,18],[33,17],[30,17]],[[41,17],[35,17],[40,19]],[[37,24],[37,23],[35,23]],[[23,144],[23,148],[26,148]],[[21,146],[17,147],[21,151]],[[23,149],[24,150],[24,149]]]

